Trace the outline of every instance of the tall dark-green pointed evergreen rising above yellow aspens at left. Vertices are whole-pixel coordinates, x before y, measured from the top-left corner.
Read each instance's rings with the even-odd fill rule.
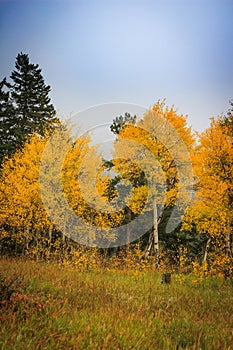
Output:
[[[29,62],[27,54],[16,57],[16,70],[11,74],[11,96],[14,101],[21,139],[33,132],[43,135],[58,122],[56,111],[50,103],[50,86],[46,86],[38,64]]]

